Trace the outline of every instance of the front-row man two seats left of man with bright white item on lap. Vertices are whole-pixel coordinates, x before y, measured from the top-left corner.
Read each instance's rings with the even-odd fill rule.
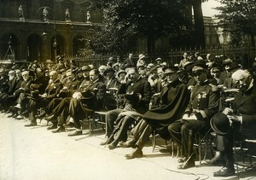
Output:
[[[35,126],[37,125],[37,119],[35,115],[38,113],[38,107],[45,107],[49,102],[57,97],[62,89],[62,84],[60,79],[58,79],[58,73],[52,71],[49,73],[50,82],[45,89],[43,95],[39,95],[38,90],[32,90],[31,96],[29,96],[29,103],[28,103],[28,111],[29,111],[29,119],[30,124],[25,126]]]

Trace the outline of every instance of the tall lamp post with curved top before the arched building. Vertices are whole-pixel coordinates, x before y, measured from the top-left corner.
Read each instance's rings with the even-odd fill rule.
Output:
[[[38,13],[43,9],[43,13],[41,15],[43,15],[43,21],[44,22],[48,22],[49,23],[49,19],[48,19],[48,10],[50,10],[53,13],[53,18],[54,18],[54,43],[53,43],[53,48],[54,48],[54,58],[57,55],[57,31],[56,31],[56,20],[55,20],[55,11],[54,9],[49,8],[48,6],[43,6],[41,8],[38,9],[37,15]],[[45,34],[47,35],[46,32],[43,32],[43,35],[45,36]]]

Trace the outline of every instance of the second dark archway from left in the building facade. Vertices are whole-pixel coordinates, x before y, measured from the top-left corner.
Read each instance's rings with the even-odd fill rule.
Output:
[[[43,61],[42,38],[38,34],[32,34],[27,38],[27,60]]]

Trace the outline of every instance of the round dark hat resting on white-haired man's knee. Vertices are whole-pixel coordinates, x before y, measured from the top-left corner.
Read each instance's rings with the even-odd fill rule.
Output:
[[[230,119],[224,113],[216,113],[210,120],[210,125],[218,135],[227,135],[231,131]]]

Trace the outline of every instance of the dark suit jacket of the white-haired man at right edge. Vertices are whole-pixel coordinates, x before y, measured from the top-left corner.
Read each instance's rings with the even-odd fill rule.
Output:
[[[256,84],[244,94],[238,92],[235,95],[236,114],[241,114],[241,135],[246,138],[256,138]]]

